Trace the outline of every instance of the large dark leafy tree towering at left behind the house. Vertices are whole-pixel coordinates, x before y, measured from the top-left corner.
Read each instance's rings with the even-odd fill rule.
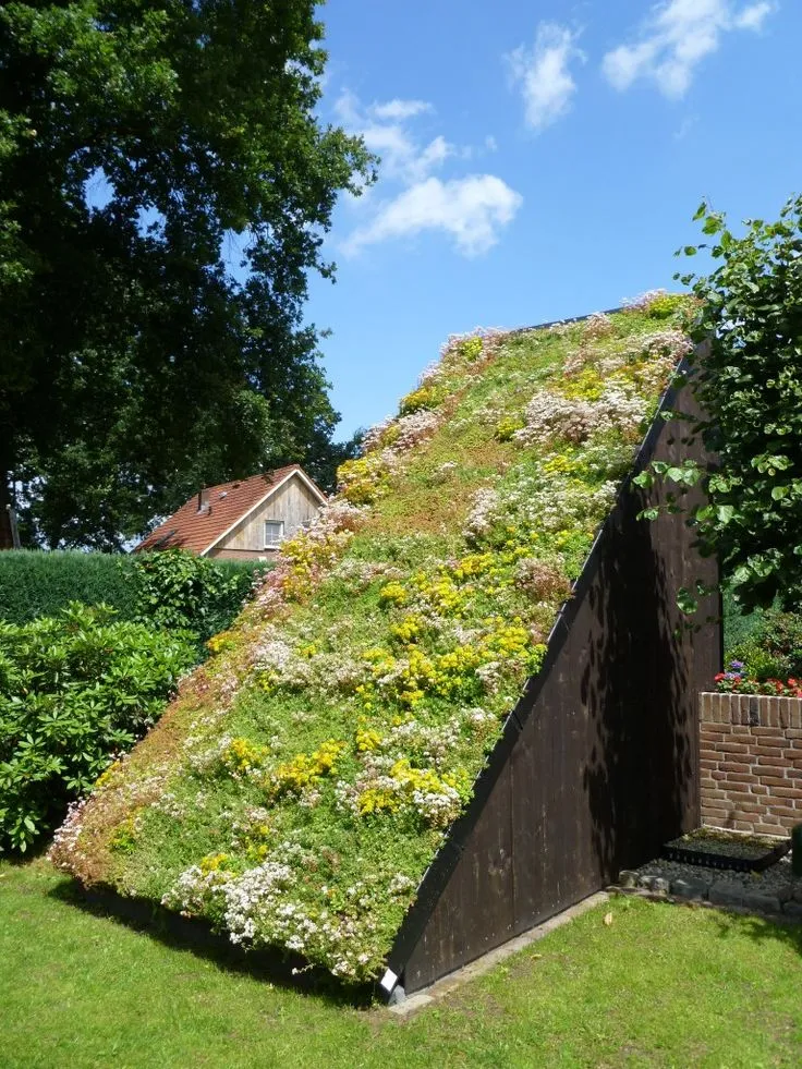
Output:
[[[314,113],[314,10],[0,9],[0,514],[28,537],[111,548],[200,484],[325,463],[306,279],[374,160]]]

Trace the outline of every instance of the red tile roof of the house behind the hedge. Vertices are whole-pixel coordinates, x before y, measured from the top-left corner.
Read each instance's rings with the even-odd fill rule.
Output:
[[[264,475],[252,475],[251,478],[207,486],[204,487],[203,495],[204,505],[208,508],[198,512],[197,494],[195,494],[181,506],[178,512],[173,512],[168,520],[151,531],[147,538],[134,548],[134,552],[179,548],[203,554],[219,542],[230,527],[239,523],[292,472],[300,472],[315,487],[320,498],[324,498],[323,490],[315,486],[300,464],[278,467]]]

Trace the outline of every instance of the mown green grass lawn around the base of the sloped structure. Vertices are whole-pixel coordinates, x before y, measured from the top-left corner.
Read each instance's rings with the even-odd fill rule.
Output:
[[[802,1058],[802,928],[617,899],[401,1020],[271,985],[77,901],[44,860],[0,864],[3,1069],[758,1069]]]

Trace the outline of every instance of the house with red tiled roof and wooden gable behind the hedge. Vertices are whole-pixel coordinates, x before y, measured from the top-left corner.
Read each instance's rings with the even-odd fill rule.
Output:
[[[186,549],[198,557],[264,560],[308,523],[326,495],[300,464],[207,486],[159,524],[134,552]]]

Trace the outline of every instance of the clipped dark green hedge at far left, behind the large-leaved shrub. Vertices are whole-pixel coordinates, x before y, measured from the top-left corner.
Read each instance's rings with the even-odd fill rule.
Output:
[[[0,552],[0,620],[26,623],[54,616],[70,602],[136,615],[135,558],[77,550],[14,549]]]

